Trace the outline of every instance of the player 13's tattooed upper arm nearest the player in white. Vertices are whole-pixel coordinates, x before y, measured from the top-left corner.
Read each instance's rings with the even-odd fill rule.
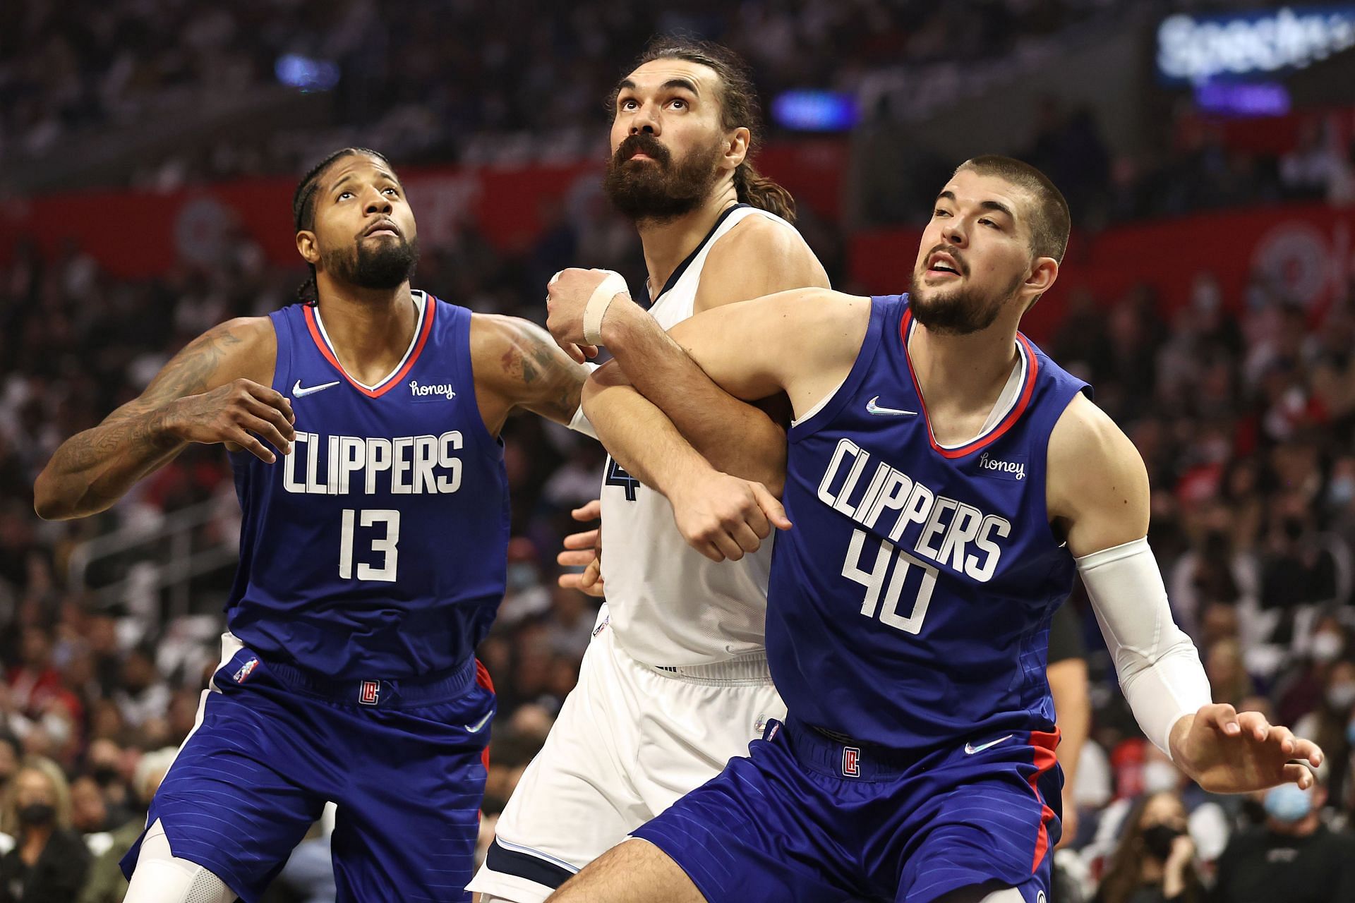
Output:
[[[514,409],[569,424],[588,368],[576,364],[545,329],[518,317],[476,314],[470,320],[476,401],[492,436]]]

